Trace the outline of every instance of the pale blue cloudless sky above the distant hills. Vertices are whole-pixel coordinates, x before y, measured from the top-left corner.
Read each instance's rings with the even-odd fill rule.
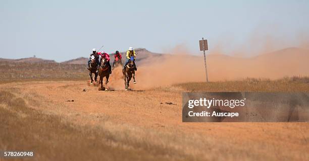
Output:
[[[199,54],[251,50],[280,40],[298,44],[309,30],[309,1],[14,1],[0,0],[0,57],[65,61],[105,45],[168,52],[184,46]],[[255,45],[253,45],[256,43]],[[281,45],[281,46],[280,46]]]

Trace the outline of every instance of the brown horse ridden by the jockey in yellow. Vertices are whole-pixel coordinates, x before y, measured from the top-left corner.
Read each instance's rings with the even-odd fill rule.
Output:
[[[125,81],[126,91],[129,90],[129,83],[130,83],[132,77],[133,77],[133,80],[134,80],[134,84],[136,84],[135,69],[134,69],[135,66],[134,66],[133,60],[134,60],[134,57],[131,56],[128,65],[125,66],[125,68],[122,70],[123,79]]]

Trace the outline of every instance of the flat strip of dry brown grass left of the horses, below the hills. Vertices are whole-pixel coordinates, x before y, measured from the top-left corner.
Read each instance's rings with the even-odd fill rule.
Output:
[[[88,78],[81,64],[0,62],[0,82],[69,81]]]

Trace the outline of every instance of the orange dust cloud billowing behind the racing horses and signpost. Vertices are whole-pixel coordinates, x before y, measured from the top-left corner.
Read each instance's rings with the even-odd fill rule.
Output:
[[[186,51],[186,50],[181,50]],[[130,82],[132,89],[164,87],[179,83],[205,82],[202,54],[193,56],[186,52],[174,51],[158,57],[149,57],[147,63],[138,65],[137,84]],[[253,57],[236,57],[223,54],[207,55],[209,81],[233,81],[244,78],[279,79],[285,76],[309,75],[309,50],[285,48],[274,52],[260,53]],[[113,71],[110,86],[115,90],[124,89],[121,67]]]

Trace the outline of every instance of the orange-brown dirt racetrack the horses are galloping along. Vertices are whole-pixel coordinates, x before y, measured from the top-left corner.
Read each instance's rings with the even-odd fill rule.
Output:
[[[0,88],[14,89],[32,108],[65,121],[94,127],[104,124],[115,134],[127,131],[126,139],[173,146],[197,158],[309,158],[309,124],[182,123],[181,89],[105,92],[85,81],[12,83]]]

